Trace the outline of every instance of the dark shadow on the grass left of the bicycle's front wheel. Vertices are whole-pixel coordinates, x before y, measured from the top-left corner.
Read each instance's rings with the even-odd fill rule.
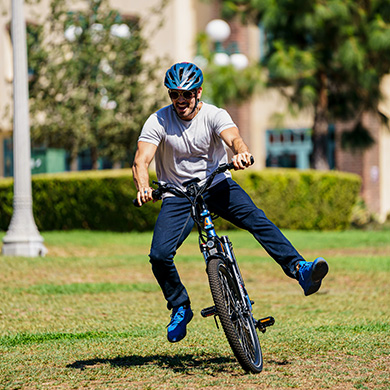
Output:
[[[85,370],[88,367],[97,366],[99,364],[110,364],[113,367],[134,367],[145,365],[157,365],[164,369],[170,369],[174,372],[187,372],[188,370],[207,367],[214,372],[231,371],[231,363],[237,363],[233,357],[213,358],[208,356],[196,356],[192,354],[184,355],[151,355],[151,356],[123,356],[112,359],[90,359],[78,360],[68,364],[67,368],[75,368]]]

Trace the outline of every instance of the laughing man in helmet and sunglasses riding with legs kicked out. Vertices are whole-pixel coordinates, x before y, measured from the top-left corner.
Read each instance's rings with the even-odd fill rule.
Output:
[[[148,167],[155,157],[159,181],[181,185],[198,177],[204,180],[218,165],[228,162],[224,144],[233,152],[235,169],[250,165],[251,153],[237,126],[223,109],[200,101],[202,71],[191,63],[173,65],[164,84],[172,104],[151,115],[138,140],[133,176],[139,204],[153,200]],[[202,182],[200,183],[202,184]],[[210,211],[251,232],[283,271],[299,281],[305,295],[318,291],[328,272],[322,258],[307,262],[281,231],[258,209],[229,172],[217,175],[204,195]],[[190,204],[165,195],[156,221],[150,250],[153,273],[172,309],[168,340],[182,340],[193,313],[188,293],[176,270],[176,250],[191,232]]]

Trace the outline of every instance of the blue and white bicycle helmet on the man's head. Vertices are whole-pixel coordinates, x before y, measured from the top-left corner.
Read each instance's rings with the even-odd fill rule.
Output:
[[[189,91],[199,88],[203,83],[202,71],[191,62],[180,62],[171,66],[166,74],[164,85],[168,89]]]

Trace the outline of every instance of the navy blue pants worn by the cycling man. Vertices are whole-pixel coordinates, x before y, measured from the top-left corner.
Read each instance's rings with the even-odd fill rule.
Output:
[[[212,213],[252,233],[286,275],[296,278],[296,265],[303,260],[302,256],[235,181],[226,179],[216,184],[204,199]],[[194,226],[190,209],[186,199],[165,198],[154,229],[149,257],[168,309],[190,302],[173,261],[176,250]]]

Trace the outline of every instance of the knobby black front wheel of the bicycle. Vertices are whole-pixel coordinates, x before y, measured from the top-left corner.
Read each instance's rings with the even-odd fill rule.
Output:
[[[246,372],[259,373],[263,356],[251,313],[243,313],[241,296],[235,279],[224,261],[213,258],[207,264],[207,274],[216,312],[230,347]]]

